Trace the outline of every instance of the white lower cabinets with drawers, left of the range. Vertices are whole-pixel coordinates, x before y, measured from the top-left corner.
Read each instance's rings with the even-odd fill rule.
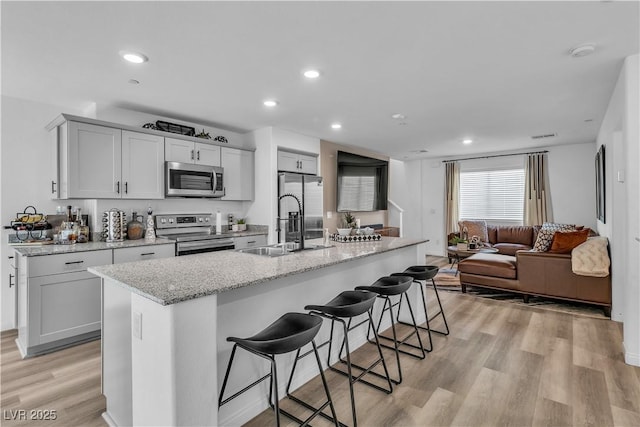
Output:
[[[18,348],[23,357],[100,337],[102,281],[88,267],[168,258],[173,243],[56,255],[15,253]]]

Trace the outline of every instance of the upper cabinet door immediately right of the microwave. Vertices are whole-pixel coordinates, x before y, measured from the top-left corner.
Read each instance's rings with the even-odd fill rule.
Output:
[[[254,154],[222,147],[224,190],[222,200],[253,200]]]

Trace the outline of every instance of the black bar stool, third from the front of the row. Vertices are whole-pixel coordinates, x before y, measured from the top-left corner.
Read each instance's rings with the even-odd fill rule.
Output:
[[[377,297],[384,300],[384,305],[382,308],[382,312],[380,313],[380,319],[378,321],[378,326],[374,330],[374,333],[380,333],[380,325],[382,324],[382,318],[384,317],[384,312],[389,310],[389,318],[391,319],[391,331],[393,332],[393,338],[386,337],[384,335],[379,335],[380,338],[384,338],[389,341],[393,341],[393,347],[380,344],[382,347],[389,348],[394,350],[396,353],[396,364],[398,365],[398,379],[391,379],[396,384],[400,384],[402,382],[402,368],[400,367],[400,353],[415,357],[417,359],[424,359],[426,357],[424,346],[422,345],[422,339],[420,338],[420,333],[418,332],[418,327],[416,325],[416,319],[413,315],[413,309],[411,308],[411,303],[409,302],[409,298],[407,297],[407,290],[411,287],[412,279],[409,276],[386,276],[381,277],[375,281],[375,283],[371,286],[358,286],[356,290],[365,290],[376,293]],[[400,299],[396,303],[391,302],[391,296],[399,295]],[[409,333],[402,339],[398,339],[396,334],[396,326],[393,318],[393,307],[398,306],[398,315],[400,314],[400,304],[402,303],[402,299],[406,299],[407,306],[409,307],[409,314],[411,315],[411,319],[413,321],[413,331]],[[373,328],[372,328],[373,329]],[[418,344],[411,344],[407,342],[409,338],[415,335],[418,338]],[[367,332],[367,338],[369,338],[369,332]],[[401,345],[408,346],[417,350],[420,350],[418,354],[415,352],[405,351],[400,348]]]

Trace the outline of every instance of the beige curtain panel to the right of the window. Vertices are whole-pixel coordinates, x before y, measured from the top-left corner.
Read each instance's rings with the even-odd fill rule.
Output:
[[[529,154],[524,174],[524,225],[553,222],[547,155],[545,153]]]

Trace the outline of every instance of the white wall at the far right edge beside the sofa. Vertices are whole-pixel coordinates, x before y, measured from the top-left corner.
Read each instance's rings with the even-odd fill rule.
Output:
[[[640,66],[625,59],[598,133],[605,146],[606,223],[600,234],[611,243],[612,318],[624,324],[625,361],[640,366]]]

